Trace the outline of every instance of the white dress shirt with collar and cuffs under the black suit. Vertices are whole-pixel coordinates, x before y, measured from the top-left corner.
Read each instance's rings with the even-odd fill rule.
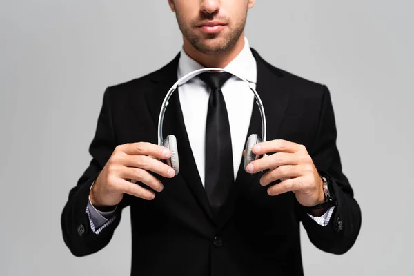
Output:
[[[255,57],[250,50],[248,40],[244,39],[244,48],[242,52],[231,61],[224,69],[233,72],[235,75],[243,77],[255,88],[257,81],[257,66]],[[177,77],[178,79],[193,72],[204,68],[197,61],[189,57],[184,49],[181,49],[179,58]],[[244,81],[237,77],[230,77],[224,86],[224,101],[228,112],[228,120],[230,124],[230,135],[233,151],[233,172],[236,179],[239,164],[242,161],[244,141],[248,133],[250,117],[255,99],[253,92],[246,86]],[[183,112],[184,124],[188,133],[191,150],[197,165],[200,179],[204,186],[205,178],[205,138],[206,138],[206,120],[208,110],[208,97],[210,89],[206,83],[198,77],[194,77],[181,84],[178,89],[179,101]],[[268,120],[271,118],[267,118]],[[260,135],[260,133],[257,133]],[[92,184],[93,185],[93,184]],[[330,208],[321,217],[313,217],[319,225],[326,226],[331,218],[335,207]],[[90,219],[90,226],[94,233],[99,234],[101,230],[115,220],[114,212],[100,212],[95,209],[90,201],[86,208],[86,213]]]

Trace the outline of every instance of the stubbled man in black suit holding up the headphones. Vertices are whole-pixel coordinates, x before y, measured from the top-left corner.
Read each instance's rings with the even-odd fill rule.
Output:
[[[361,213],[342,173],[328,88],[249,47],[254,0],[168,3],[183,49],[104,93],[92,161],[61,216],[68,248],[77,256],[101,250],[130,206],[131,275],[303,275],[300,221],[317,248],[345,253]],[[253,94],[237,77],[200,75],[179,86],[164,118],[164,133],[177,137],[175,175],[165,162],[172,152],[157,145],[161,103],[178,78],[203,67],[256,88],[267,139],[253,148],[262,158],[244,168],[246,137],[261,131]]]

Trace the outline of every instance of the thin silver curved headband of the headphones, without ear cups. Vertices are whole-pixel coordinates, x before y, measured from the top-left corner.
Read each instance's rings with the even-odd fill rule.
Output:
[[[228,72],[227,70],[224,70],[222,68],[202,68],[199,70],[195,70],[193,72],[189,72],[187,75],[184,75],[183,77],[181,77],[176,83],[174,83],[174,85],[170,88],[170,90],[168,91],[166,97],[164,98],[164,101],[162,102],[162,106],[161,106],[161,111],[159,112],[159,119],[158,119],[158,145],[159,146],[164,146],[164,138],[163,138],[163,133],[162,133],[162,127],[164,124],[164,115],[166,113],[166,109],[168,106],[168,101],[172,95],[172,93],[177,89],[178,86],[181,86],[181,84],[186,83],[186,81],[188,81],[189,79],[193,79],[193,77],[196,77],[197,75],[203,73],[203,72]],[[262,104],[262,99],[260,99],[259,94],[257,94],[257,91],[255,90],[255,88],[253,88],[250,83],[242,78],[239,77],[235,74],[233,74],[232,72],[228,72],[231,75],[241,79],[242,81],[244,81],[244,83],[246,83],[248,85],[248,87],[250,88],[250,90],[252,90],[253,94],[255,95],[256,98],[256,103],[257,106],[259,107],[260,110],[260,117],[262,119],[262,141],[266,141],[266,117],[264,115],[264,108],[263,108],[263,104]]]

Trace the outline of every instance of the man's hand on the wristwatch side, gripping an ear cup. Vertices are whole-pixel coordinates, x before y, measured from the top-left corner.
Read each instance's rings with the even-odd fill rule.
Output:
[[[262,186],[281,180],[268,188],[269,195],[293,192],[302,206],[315,206],[324,201],[322,178],[305,146],[278,139],[256,144],[253,153],[264,157],[250,162],[247,172],[269,169],[260,179]]]

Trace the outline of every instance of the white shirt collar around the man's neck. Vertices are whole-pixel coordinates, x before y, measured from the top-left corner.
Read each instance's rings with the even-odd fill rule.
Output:
[[[190,72],[204,68],[200,63],[189,57],[184,48],[181,48],[180,58],[178,62],[177,77],[180,79],[184,75]],[[253,57],[253,53],[250,50],[250,45],[246,37],[244,37],[244,48],[242,52],[233,59],[224,68],[229,72],[233,72],[235,75],[243,77],[250,83],[256,83],[257,81],[257,66],[256,59]],[[186,81],[184,81],[185,83]],[[183,84],[183,83],[181,83]]]

